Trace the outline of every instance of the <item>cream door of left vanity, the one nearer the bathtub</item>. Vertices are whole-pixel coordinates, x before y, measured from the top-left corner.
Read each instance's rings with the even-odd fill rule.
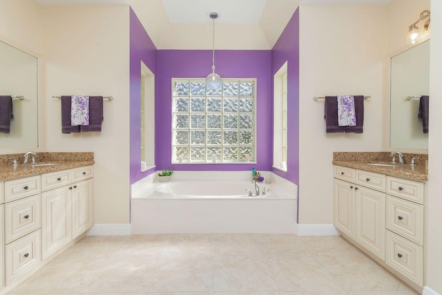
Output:
[[[93,226],[93,180],[74,184],[73,189],[73,238]]]

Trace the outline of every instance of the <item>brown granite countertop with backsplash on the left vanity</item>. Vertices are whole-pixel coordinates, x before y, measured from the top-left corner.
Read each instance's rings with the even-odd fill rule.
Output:
[[[14,166],[8,158],[14,157],[17,162],[23,162],[21,154],[0,155],[0,181],[25,178],[53,171],[93,165],[93,153],[37,153],[35,164],[57,163],[50,166],[31,166],[31,164],[18,164]],[[20,158],[21,157],[21,158]]]

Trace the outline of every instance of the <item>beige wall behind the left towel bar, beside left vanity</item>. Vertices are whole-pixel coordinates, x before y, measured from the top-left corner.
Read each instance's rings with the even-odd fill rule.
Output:
[[[128,6],[46,6],[44,117],[48,151],[95,154],[95,224],[129,223]],[[112,95],[101,133],[61,133],[52,95]]]

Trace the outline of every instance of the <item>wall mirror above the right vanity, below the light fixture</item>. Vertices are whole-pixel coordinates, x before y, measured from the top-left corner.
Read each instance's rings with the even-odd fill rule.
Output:
[[[390,148],[428,149],[428,134],[423,133],[418,112],[419,97],[429,93],[430,40],[427,40],[390,59]]]

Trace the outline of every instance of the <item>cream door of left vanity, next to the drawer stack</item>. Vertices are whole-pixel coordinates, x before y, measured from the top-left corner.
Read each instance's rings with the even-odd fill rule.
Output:
[[[72,240],[72,187],[42,193],[42,254],[47,258]]]

